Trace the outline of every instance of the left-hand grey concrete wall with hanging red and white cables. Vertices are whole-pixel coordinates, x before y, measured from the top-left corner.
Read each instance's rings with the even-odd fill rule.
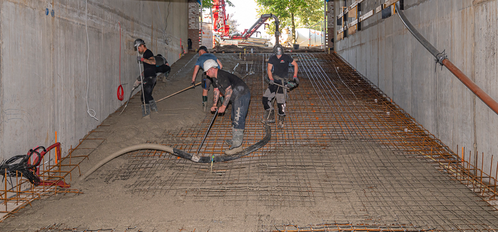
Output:
[[[180,39],[187,48],[187,0],[88,0],[88,14],[85,8],[85,0],[0,1],[2,158],[53,144],[55,131],[67,154],[116,111],[126,101],[116,96],[120,61],[125,97],[138,76],[136,38],[170,64],[179,59]],[[87,113],[87,83],[88,106],[100,121]]]

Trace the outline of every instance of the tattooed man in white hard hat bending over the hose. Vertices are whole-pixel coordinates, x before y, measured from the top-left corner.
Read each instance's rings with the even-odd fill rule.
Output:
[[[218,113],[225,112],[229,102],[232,102],[232,139],[225,141],[230,149],[225,151],[227,155],[233,155],[243,150],[244,129],[246,127],[246,115],[249,109],[250,92],[248,85],[239,77],[218,68],[215,60],[204,62],[206,74],[213,79],[214,98],[211,111],[216,111],[220,93],[225,95],[222,106]]]

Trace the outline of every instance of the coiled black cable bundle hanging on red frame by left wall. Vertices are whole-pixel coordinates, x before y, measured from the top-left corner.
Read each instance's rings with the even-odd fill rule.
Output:
[[[38,186],[40,184],[40,177],[38,177],[35,172],[37,170],[37,166],[41,162],[41,155],[38,152],[38,150],[43,149],[44,152],[47,152],[44,147],[37,147],[34,150],[30,149],[29,150],[29,155],[15,155],[6,161],[3,161],[0,164],[0,175],[13,177],[13,176],[19,176],[17,172],[22,173],[22,176],[25,177],[26,179],[31,182],[34,186]],[[31,156],[36,155],[35,157],[35,163],[29,164],[28,161],[31,158]],[[15,161],[19,160],[18,163],[14,163]],[[12,164],[13,163],[13,164]],[[12,182],[12,181],[10,181]]]

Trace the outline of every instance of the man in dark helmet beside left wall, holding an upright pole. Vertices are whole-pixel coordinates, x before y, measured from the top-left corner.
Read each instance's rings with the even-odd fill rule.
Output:
[[[145,46],[145,41],[143,41],[142,39],[136,39],[133,42],[133,47],[135,51],[143,54],[142,57],[136,57],[136,60],[138,62],[141,61],[143,63],[143,77],[140,77],[143,83],[140,83],[140,81],[137,79],[134,83],[134,86],[142,84],[143,93],[140,95],[140,99],[142,100],[142,118],[150,118],[150,110],[157,112],[156,102],[152,97],[152,90],[154,89],[154,86],[156,84],[156,61],[154,58],[154,54],[152,53],[152,51],[147,49],[147,47]]]

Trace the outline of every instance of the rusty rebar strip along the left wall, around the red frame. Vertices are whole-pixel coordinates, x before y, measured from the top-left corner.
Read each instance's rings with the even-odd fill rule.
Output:
[[[95,130],[90,131],[85,138],[80,139],[75,148],[71,146],[68,155],[61,157],[61,160],[56,164],[50,164],[54,163],[52,160],[55,157],[55,152],[49,151],[43,156],[38,176],[42,181],[50,181],[53,184],[34,187],[28,180],[22,178],[20,173],[17,177],[3,176],[4,190],[0,191],[0,207],[2,209],[0,222],[16,214],[26,205],[31,205],[33,200],[51,195],[81,194],[82,192],[78,189],[61,188],[56,183],[67,183],[69,186],[76,171],[78,171],[77,175],[81,175],[79,164],[85,158],[88,159],[88,156],[106,140],[95,135],[95,133],[107,132],[101,130],[101,127],[106,127],[106,125],[99,125]]]

